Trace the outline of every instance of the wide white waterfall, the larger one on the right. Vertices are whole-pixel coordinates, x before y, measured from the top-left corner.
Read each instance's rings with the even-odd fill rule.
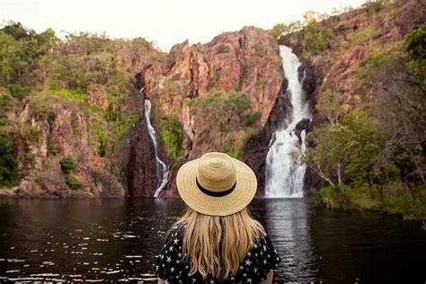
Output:
[[[298,149],[304,151],[306,130],[297,138],[295,128],[297,122],[310,119],[309,106],[304,99],[302,84],[297,69],[301,63],[292,49],[280,46],[280,56],[284,74],[288,80],[288,98],[291,107],[287,118],[283,121],[284,129],[277,129],[272,135],[270,149],[266,156],[266,197],[303,197],[303,184],[306,165],[293,161],[291,153]]]

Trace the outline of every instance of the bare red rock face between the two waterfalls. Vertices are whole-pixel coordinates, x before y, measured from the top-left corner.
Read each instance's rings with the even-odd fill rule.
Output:
[[[160,73],[161,72],[161,73]],[[268,120],[283,81],[276,40],[267,31],[246,27],[225,32],[207,44],[173,46],[164,62],[143,71],[146,96],[161,113],[175,114],[184,129],[185,159],[220,150],[227,131],[212,130],[214,121],[192,116],[188,102],[212,89],[247,93],[251,110],[262,114],[260,127]],[[174,173],[164,196],[175,196]]]

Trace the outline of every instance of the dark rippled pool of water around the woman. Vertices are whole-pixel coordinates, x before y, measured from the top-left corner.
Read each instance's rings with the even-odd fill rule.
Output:
[[[155,281],[179,200],[0,200],[0,281]],[[398,217],[253,200],[283,262],[275,282],[425,283],[426,231]]]

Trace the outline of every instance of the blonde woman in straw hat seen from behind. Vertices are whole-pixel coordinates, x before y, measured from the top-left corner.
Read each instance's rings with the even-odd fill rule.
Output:
[[[188,209],[156,260],[158,283],[271,283],[280,257],[246,210],[257,189],[252,169],[212,152],[183,164],[176,183]]]

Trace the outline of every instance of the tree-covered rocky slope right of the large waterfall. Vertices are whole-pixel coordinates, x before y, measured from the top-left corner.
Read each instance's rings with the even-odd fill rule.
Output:
[[[327,206],[426,219],[426,24],[415,9],[424,6],[374,1],[351,12],[351,22],[324,20],[334,34],[327,47],[306,32],[310,23],[285,37],[301,40],[323,74],[315,129],[306,152],[294,155],[323,181],[314,197]],[[323,48],[306,53],[312,39]]]

